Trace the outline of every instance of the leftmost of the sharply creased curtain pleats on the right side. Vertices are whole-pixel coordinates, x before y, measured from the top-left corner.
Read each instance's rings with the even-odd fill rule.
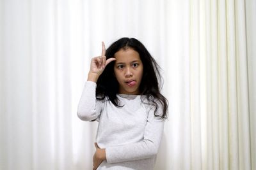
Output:
[[[191,169],[202,169],[200,112],[199,1],[190,2],[189,104],[191,122]]]

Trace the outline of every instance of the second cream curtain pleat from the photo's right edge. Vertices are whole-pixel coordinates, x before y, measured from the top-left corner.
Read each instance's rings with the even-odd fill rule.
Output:
[[[237,110],[239,118],[239,167],[251,169],[248,72],[244,1],[236,1]]]

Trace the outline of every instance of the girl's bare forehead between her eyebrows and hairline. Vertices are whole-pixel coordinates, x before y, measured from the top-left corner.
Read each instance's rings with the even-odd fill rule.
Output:
[[[115,53],[114,57],[116,62],[132,62],[134,60],[140,60],[140,54],[132,48],[121,49]]]

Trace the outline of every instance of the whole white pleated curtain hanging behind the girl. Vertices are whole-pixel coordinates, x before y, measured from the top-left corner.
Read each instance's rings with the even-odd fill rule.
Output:
[[[90,59],[122,37],[162,67],[156,170],[256,169],[256,1],[0,0],[0,169],[92,169],[76,116]]]

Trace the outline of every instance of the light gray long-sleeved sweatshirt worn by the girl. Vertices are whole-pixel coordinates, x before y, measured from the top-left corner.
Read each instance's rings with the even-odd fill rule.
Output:
[[[154,117],[154,108],[141,102],[141,99],[146,101],[144,96],[118,94],[120,105],[124,105],[118,108],[111,101],[97,100],[95,89],[96,83],[86,81],[77,116],[99,122],[96,142],[100,148],[106,148],[107,160],[98,169],[153,169],[164,120]]]

